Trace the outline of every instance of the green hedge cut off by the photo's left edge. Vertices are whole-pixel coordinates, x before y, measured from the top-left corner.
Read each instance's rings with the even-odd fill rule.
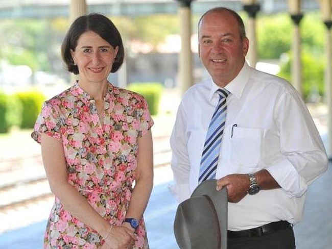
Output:
[[[0,92],[0,133],[9,132],[21,123],[22,106],[14,95]]]

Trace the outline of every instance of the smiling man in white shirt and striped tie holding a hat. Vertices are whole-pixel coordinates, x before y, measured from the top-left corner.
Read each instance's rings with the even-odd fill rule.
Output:
[[[249,40],[237,13],[207,11],[198,35],[210,80],[189,88],[178,109],[170,140],[173,193],[181,202],[216,178],[217,190],[228,190],[228,249],[295,248],[292,227],[302,217],[307,187],[327,169],[315,123],[287,81],[246,63]],[[226,120],[215,171],[204,166],[202,177],[217,89],[226,92],[220,97]]]

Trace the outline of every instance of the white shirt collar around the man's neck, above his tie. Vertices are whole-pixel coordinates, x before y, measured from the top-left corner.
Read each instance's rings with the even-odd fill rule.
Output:
[[[240,98],[242,92],[247,85],[248,79],[251,74],[251,68],[247,62],[244,63],[241,71],[239,72],[238,76],[236,76],[231,82],[229,82],[225,89],[228,90],[232,95],[235,95],[237,98]],[[209,92],[209,99],[212,99],[214,93],[220,87],[212,80],[211,78],[211,88]]]

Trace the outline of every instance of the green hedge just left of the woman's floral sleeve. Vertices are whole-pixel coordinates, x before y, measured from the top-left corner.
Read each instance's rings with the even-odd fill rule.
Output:
[[[43,93],[38,91],[17,92],[15,94],[22,104],[22,122],[20,128],[32,129],[45,101]]]

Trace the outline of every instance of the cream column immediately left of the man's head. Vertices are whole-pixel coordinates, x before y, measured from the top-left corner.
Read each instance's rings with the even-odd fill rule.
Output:
[[[179,54],[179,76],[181,95],[191,87],[193,82],[193,62],[192,62],[192,0],[177,0],[179,3],[180,16],[180,35],[181,35],[181,51]]]

